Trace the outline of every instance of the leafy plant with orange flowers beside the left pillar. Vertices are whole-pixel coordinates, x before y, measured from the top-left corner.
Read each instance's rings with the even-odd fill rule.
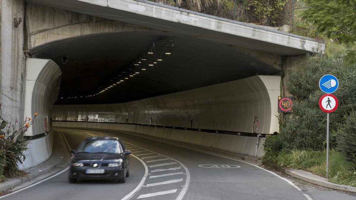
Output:
[[[34,118],[36,116],[37,113]],[[22,173],[18,164],[22,164],[26,158],[27,144],[24,136],[33,121],[27,117],[20,130],[15,130],[17,121],[11,124],[2,119],[0,107],[0,181]]]

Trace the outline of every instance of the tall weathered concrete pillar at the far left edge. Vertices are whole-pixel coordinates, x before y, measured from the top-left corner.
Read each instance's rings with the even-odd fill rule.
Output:
[[[23,83],[26,80],[23,54],[23,25],[14,26],[14,18],[24,19],[23,0],[0,1],[0,104],[2,117],[10,122],[23,121]]]

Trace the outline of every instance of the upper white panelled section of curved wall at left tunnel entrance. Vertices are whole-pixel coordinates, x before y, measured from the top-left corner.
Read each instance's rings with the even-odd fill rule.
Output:
[[[37,112],[37,118],[26,136],[48,132],[51,129],[52,106],[56,102],[61,83],[61,69],[49,59],[26,60],[25,117]]]

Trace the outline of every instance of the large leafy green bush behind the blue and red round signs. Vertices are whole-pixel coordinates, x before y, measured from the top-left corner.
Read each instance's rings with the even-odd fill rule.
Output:
[[[293,112],[280,120],[277,136],[266,138],[267,156],[262,159],[274,161],[282,149],[321,151],[326,148],[326,114],[319,108],[319,98],[323,95],[319,79],[325,74],[334,74],[339,79],[339,88],[334,93],[339,107],[330,114],[329,126],[330,147],[336,148],[338,128],[345,122],[344,117],[356,110],[355,69],[355,64],[344,65],[343,55],[320,53],[309,55],[302,67],[290,69],[286,88],[295,97]],[[276,141],[282,144],[275,145]]]

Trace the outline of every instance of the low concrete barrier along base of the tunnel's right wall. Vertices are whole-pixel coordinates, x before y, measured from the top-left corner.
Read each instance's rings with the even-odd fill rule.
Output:
[[[53,122],[54,127],[62,128],[85,128],[100,129],[110,131],[129,131],[146,136],[164,138],[168,140],[197,144],[200,146],[222,149],[236,153],[253,156],[256,148],[256,137],[224,135],[219,133],[206,133],[199,131],[187,131],[168,128],[158,128],[149,126],[138,126],[128,124],[113,123],[93,123],[93,122]],[[257,157],[263,156],[263,144],[265,138],[261,138],[258,145]]]

